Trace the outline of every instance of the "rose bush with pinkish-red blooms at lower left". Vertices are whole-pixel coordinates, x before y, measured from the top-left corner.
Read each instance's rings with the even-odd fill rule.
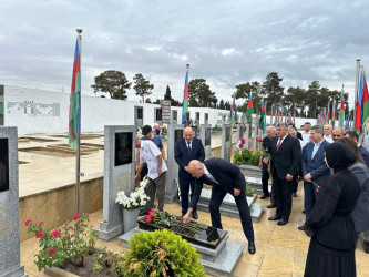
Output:
[[[68,260],[73,265],[83,265],[83,255],[94,246],[94,234],[86,230],[89,214],[75,215],[72,223],[65,223],[61,230],[47,232],[42,223],[27,220],[28,233],[34,233],[40,239],[40,252],[34,264],[42,268],[63,267]],[[88,243],[86,243],[88,242]]]

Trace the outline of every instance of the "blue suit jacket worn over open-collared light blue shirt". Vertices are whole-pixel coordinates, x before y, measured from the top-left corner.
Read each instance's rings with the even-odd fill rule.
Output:
[[[311,158],[314,145],[314,142],[309,142],[303,150],[303,176],[310,173],[312,181],[319,185],[322,185],[326,182],[326,178],[330,175],[330,170],[325,162],[325,152],[326,147],[329,145],[329,142],[324,140],[314,158]]]

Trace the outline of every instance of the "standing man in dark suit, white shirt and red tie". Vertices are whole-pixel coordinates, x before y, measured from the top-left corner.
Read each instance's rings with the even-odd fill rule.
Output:
[[[298,138],[288,134],[288,124],[277,125],[278,140],[271,144],[271,176],[274,186],[276,214],[269,220],[278,220],[277,225],[286,225],[293,205],[293,179],[300,163],[301,148]]]

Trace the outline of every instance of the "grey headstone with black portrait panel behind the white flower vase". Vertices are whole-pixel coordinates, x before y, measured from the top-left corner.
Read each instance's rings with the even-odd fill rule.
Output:
[[[116,194],[134,191],[135,126],[105,126],[103,222],[93,229],[109,240],[123,233],[122,206]]]

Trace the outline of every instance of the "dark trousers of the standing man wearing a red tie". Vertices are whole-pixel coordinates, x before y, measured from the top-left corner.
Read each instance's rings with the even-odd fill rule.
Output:
[[[288,220],[293,206],[293,181],[280,179],[277,175],[273,179],[274,204],[277,206],[276,214]]]

